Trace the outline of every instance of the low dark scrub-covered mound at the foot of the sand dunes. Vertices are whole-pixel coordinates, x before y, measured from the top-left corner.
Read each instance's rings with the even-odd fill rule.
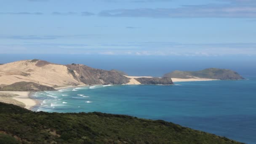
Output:
[[[17,82],[0,87],[0,91],[55,91],[55,89],[33,82]]]

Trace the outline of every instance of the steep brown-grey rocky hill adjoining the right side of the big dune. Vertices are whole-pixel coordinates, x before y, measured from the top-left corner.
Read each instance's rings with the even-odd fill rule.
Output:
[[[128,83],[130,78],[120,75],[115,71],[107,71],[102,69],[94,69],[83,64],[69,64],[66,65],[69,68],[69,72],[75,77],[75,79],[87,84],[87,85],[99,85],[99,84],[125,84]],[[75,72],[77,74],[75,74]]]

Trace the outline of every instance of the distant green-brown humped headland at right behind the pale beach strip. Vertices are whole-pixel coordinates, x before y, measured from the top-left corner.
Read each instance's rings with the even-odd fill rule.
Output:
[[[217,68],[209,68],[203,69],[201,71],[173,71],[168,74],[165,74],[163,77],[171,77],[171,78],[209,78],[209,79],[218,79],[218,80],[241,80],[244,79],[237,72],[234,72],[230,69],[217,69]]]

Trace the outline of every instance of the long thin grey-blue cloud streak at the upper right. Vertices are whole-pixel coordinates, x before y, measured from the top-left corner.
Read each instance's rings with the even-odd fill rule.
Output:
[[[227,3],[183,5],[178,8],[114,9],[101,11],[99,16],[152,18],[256,18],[256,0],[216,1],[226,1]]]

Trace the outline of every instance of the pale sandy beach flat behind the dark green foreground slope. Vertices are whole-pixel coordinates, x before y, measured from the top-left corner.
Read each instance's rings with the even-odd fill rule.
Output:
[[[13,94],[14,96],[11,99],[22,102],[26,109],[31,109],[37,104],[34,99],[29,98],[30,92],[28,91],[0,91],[0,93]]]

